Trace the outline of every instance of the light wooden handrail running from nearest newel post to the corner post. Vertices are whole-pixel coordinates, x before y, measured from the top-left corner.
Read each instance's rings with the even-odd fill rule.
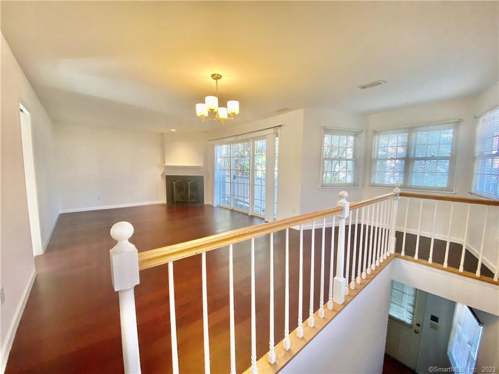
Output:
[[[366,199],[350,204],[350,210],[356,209],[374,202],[382,201],[395,197],[397,193],[386,193],[371,199]],[[296,215],[289,218],[279,219],[273,222],[266,222],[250,227],[244,227],[233,231],[223,232],[203,238],[186,241],[184,243],[168,245],[166,247],[151,249],[139,252],[139,269],[149,269],[151,267],[166,264],[171,261],[177,261],[182,258],[194,256],[213,249],[226,247],[230,244],[236,244],[257,236],[269,234],[271,232],[284,230],[286,228],[310,222],[316,219],[329,217],[339,214],[343,211],[341,206],[334,208],[318,210],[311,213]]]

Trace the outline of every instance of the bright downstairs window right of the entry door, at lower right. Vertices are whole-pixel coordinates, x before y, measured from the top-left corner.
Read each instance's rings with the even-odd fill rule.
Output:
[[[482,322],[470,307],[456,304],[447,354],[451,365],[473,373],[482,337]]]

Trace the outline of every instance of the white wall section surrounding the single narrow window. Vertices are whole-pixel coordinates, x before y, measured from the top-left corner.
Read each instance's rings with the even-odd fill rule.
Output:
[[[364,130],[357,135],[358,187],[319,188],[322,127]],[[365,129],[366,116],[364,115],[323,109],[304,109],[300,213],[336,206],[339,192],[343,189],[348,191],[349,201],[362,199]]]

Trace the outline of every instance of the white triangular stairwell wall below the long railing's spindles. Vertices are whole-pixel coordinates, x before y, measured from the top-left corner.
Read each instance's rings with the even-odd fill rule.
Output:
[[[391,267],[392,263],[280,373],[381,373],[390,306]]]

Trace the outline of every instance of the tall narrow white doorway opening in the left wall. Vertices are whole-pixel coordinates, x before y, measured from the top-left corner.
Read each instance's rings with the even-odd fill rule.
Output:
[[[33,139],[31,135],[31,118],[29,112],[19,104],[21,122],[22,159],[24,164],[24,182],[28,205],[29,228],[31,231],[31,245],[33,256],[43,253],[40,233],[40,218],[38,215],[38,198],[36,194],[36,179],[33,158]]]

